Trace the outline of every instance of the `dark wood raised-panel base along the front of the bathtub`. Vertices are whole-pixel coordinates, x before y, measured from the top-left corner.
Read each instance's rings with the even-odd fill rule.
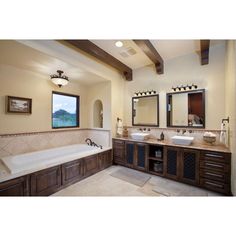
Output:
[[[48,196],[111,165],[109,150],[0,183],[0,196]]]

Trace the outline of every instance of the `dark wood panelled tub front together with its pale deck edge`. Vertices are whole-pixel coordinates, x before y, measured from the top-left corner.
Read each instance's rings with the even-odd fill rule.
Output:
[[[64,156],[42,167],[10,174],[0,161],[0,196],[48,196],[112,165],[111,148]]]

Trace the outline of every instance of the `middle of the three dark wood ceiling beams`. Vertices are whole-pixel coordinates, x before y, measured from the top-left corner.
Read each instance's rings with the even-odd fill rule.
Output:
[[[133,40],[142,51],[149,57],[149,59],[155,64],[157,74],[164,73],[164,62],[160,54],[154,48],[149,40]]]

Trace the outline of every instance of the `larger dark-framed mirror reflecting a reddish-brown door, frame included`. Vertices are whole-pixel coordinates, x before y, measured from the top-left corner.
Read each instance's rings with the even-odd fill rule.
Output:
[[[167,93],[167,127],[205,128],[205,90]]]

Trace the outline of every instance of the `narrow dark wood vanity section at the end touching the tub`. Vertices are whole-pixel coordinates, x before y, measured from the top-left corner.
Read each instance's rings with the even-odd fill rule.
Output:
[[[113,161],[116,164],[125,164],[125,142],[113,139]]]

